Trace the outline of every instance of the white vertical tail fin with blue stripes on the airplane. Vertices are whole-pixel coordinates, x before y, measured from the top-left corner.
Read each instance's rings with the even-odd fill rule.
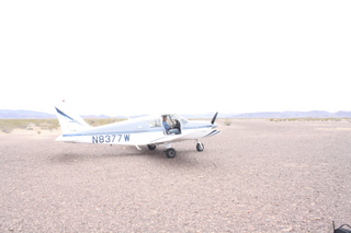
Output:
[[[79,115],[67,114],[57,107],[55,108],[64,135],[91,128]]]

